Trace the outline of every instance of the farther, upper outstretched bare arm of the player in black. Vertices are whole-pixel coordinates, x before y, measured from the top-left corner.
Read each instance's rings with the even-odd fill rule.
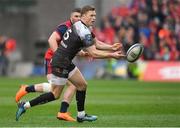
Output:
[[[109,50],[109,51],[117,51],[122,48],[121,43],[114,43],[113,45],[106,44],[102,41],[99,41],[97,38],[94,38],[96,48],[99,50]]]

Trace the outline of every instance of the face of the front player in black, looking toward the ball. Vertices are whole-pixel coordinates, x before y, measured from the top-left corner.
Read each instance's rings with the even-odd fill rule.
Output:
[[[87,26],[93,26],[95,20],[96,20],[96,12],[95,11],[88,11],[85,14],[85,20]]]

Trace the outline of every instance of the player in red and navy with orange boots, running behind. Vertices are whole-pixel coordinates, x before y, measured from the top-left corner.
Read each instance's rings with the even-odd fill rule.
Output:
[[[22,85],[19,91],[16,93],[16,97],[15,97],[16,102],[19,102],[19,100],[23,96],[31,92],[50,92],[51,91],[50,76],[52,73],[52,69],[51,69],[50,61],[52,59],[54,51],[56,51],[56,49],[58,48],[58,45],[60,44],[64,33],[66,32],[68,28],[72,26],[73,23],[80,20],[80,16],[81,16],[81,9],[80,8],[73,9],[70,15],[70,20],[60,24],[49,37],[48,42],[51,48],[49,48],[45,53],[45,72],[46,72],[47,80],[49,83],[40,83],[40,84],[29,85],[29,86]],[[78,55],[85,56],[86,53],[81,51]],[[66,121],[75,121],[75,119],[72,118],[67,112],[69,103],[71,102],[75,91],[76,91],[76,87],[73,86],[70,81],[68,81],[67,89],[64,92],[64,97],[61,102],[60,112],[58,112],[57,114],[58,119],[66,120]]]

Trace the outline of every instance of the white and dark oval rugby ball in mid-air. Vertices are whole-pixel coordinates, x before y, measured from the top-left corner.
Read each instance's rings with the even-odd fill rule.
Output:
[[[132,63],[138,60],[141,54],[143,53],[143,50],[144,46],[140,43],[132,45],[126,53],[127,61]]]

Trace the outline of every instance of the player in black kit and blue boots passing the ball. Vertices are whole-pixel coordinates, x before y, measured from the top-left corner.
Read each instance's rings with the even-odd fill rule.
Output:
[[[51,92],[44,93],[31,101],[19,103],[18,111],[16,113],[16,120],[19,119],[26,109],[58,99],[64,85],[67,83],[67,80],[75,85],[77,89],[77,121],[95,121],[97,119],[97,116],[87,115],[85,113],[84,104],[87,82],[79,69],[72,63],[72,59],[83,48],[87,50],[87,52],[93,58],[98,59],[120,59],[124,58],[125,55],[123,55],[122,51],[119,50],[119,44],[115,45],[114,47],[101,45],[101,42],[99,42],[91,33],[89,27],[93,25],[96,19],[94,7],[83,7],[81,15],[81,21],[76,22],[70,29],[66,31],[52,58],[52,75],[50,79],[52,85]],[[114,51],[108,51],[113,49]]]

